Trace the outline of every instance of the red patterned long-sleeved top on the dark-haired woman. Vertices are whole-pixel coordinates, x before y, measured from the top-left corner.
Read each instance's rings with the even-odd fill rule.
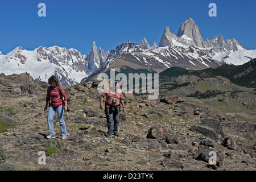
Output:
[[[62,98],[60,98],[58,86],[56,86],[55,88],[51,87],[50,92],[49,92],[48,88],[47,88],[46,102],[48,103],[49,99],[51,97],[51,106],[53,106],[53,107],[61,106],[61,105],[65,104],[64,101],[68,101],[67,94],[65,93],[62,86],[60,86],[60,92],[61,92],[62,96],[64,97],[64,101],[62,100]]]

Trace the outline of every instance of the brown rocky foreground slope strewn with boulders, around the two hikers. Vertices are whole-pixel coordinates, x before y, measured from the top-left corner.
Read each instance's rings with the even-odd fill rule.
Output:
[[[0,76],[0,169],[24,171],[251,171],[254,122],[237,121],[180,97],[158,101],[126,95],[119,137],[106,137],[96,82],[65,88],[67,140],[48,134],[43,111],[48,84],[29,74]],[[39,164],[40,151],[46,164]],[[210,151],[217,163],[209,164]]]

